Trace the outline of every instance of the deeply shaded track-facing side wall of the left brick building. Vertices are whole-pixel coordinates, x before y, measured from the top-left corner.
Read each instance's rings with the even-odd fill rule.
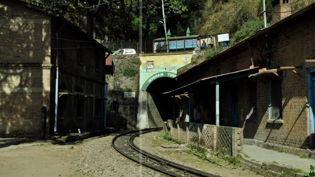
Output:
[[[64,48],[58,49],[59,92],[75,94],[65,94],[58,99],[58,111],[61,112],[58,112],[57,131],[77,132],[78,128],[81,131],[100,128],[104,124],[105,51],[96,47],[100,44],[90,42],[91,39],[80,31],[63,26],[59,19],[53,17],[52,22],[52,37],[58,33],[59,38],[66,39],[54,39],[51,44],[52,48]],[[55,54],[56,49],[52,50],[52,62],[56,62]]]

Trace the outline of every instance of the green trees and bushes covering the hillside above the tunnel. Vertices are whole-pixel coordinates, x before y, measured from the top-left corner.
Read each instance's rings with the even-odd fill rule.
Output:
[[[52,9],[76,25],[79,10],[88,9],[93,14],[93,31],[98,39],[139,41],[141,34],[144,41],[152,41],[165,35],[163,25],[159,23],[163,20],[162,0],[23,1]],[[290,0],[292,12],[313,1]],[[166,27],[173,37],[185,35],[187,27],[191,34],[202,36],[238,31],[232,38],[234,44],[263,27],[262,0],[164,0],[164,8]],[[271,0],[266,0],[266,14],[267,22],[270,22]]]

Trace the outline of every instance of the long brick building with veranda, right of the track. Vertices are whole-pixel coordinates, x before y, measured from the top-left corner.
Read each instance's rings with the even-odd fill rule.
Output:
[[[176,95],[174,119],[193,119],[199,103],[212,124],[243,128],[245,143],[298,154],[315,145],[315,3],[284,16],[290,2],[272,2],[280,21],[178,69],[176,89],[165,94]]]

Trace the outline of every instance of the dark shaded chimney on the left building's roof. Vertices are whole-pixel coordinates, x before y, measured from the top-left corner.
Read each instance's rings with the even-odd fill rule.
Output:
[[[79,28],[86,32],[88,35],[92,36],[93,32],[93,16],[87,9],[82,9],[79,11]]]

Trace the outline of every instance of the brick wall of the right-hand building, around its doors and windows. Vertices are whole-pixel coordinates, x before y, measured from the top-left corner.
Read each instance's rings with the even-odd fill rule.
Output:
[[[260,55],[261,47],[253,48],[256,66],[268,69],[277,69],[279,66],[302,66],[279,72],[282,79],[282,119],[283,123],[272,122],[269,118],[270,104],[270,76],[236,79],[238,94],[238,127],[243,127],[244,138],[259,140],[261,142],[278,144],[296,148],[307,148],[309,144],[309,105],[308,105],[308,71],[315,68],[313,63],[305,60],[315,59],[315,15],[311,12],[282,24],[279,30],[268,33],[268,46],[272,48],[269,60]],[[251,41],[253,46],[265,45],[265,36],[256,37]],[[264,51],[262,49],[261,51]],[[221,67],[221,74],[229,72],[229,62],[236,59],[237,70],[248,69],[251,66],[250,52],[247,44],[241,44],[231,51],[233,56],[226,54],[217,59],[207,61],[193,70],[189,70],[178,77],[178,87],[185,86],[198,79],[214,76],[215,67]],[[231,84],[234,81],[220,83],[220,116],[229,120],[231,105],[229,96]],[[256,82],[257,88],[257,118],[247,119],[248,115],[248,82]],[[203,86],[200,86],[203,87]],[[205,86],[204,86],[205,87]],[[211,87],[211,86],[210,86]],[[223,87],[223,88],[222,88]],[[204,88],[201,95],[206,95]],[[200,89],[195,92],[200,92]],[[215,92],[212,93],[215,95]],[[211,98],[209,98],[211,100]],[[214,100],[212,99],[212,101]],[[220,118],[221,118],[220,117]],[[281,121],[280,121],[281,122]]]

